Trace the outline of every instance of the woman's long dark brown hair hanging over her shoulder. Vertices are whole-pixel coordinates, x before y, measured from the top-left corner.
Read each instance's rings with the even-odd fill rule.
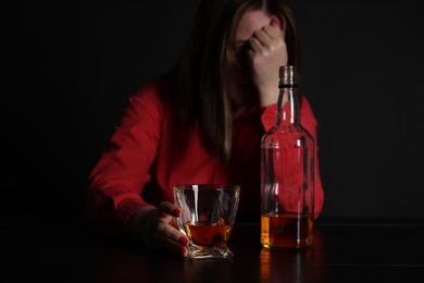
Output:
[[[277,16],[285,27],[288,64],[299,65],[299,37],[287,0],[203,0],[176,66],[176,107],[184,123],[198,122],[205,149],[223,161],[232,150],[233,114],[227,94],[227,56],[235,54],[237,24],[248,11]],[[227,54],[228,52],[229,54]]]

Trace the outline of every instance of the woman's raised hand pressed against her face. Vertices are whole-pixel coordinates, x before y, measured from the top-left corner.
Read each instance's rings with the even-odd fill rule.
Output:
[[[280,65],[287,64],[287,47],[284,30],[275,20],[253,33],[249,39],[247,58],[261,106],[276,103],[278,70]]]

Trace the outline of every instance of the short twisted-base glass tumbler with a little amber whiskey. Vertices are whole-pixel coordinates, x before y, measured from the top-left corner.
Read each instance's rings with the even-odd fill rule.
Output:
[[[230,259],[227,241],[232,234],[240,187],[228,184],[174,186],[174,201],[180,208],[179,230],[189,238],[188,259]]]

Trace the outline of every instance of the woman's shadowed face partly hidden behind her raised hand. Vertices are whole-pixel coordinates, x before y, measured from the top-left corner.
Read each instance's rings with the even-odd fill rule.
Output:
[[[246,50],[249,38],[254,30],[270,25],[272,19],[263,11],[247,12],[237,24],[235,30],[234,46],[235,56],[239,65],[228,59],[229,91],[233,102],[238,104],[250,104],[255,102],[255,89],[252,84],[251,72],[246,63]]]

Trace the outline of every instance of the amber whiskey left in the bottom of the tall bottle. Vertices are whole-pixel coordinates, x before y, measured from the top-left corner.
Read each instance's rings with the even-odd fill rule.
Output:
[[[313,243],[313,216],[261,216],[261,244],[265,248],[309,248]]]

